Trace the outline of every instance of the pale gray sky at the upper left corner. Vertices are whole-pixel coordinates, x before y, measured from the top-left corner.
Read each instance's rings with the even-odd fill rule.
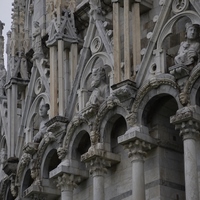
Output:
[[[6,41],[7,41],[7,32],[10,30],[11,27],[11,9],[12,9],[12,2],[13,0],[0,0],[0,20],[5,24],[4,30],[3,30],[3,36],[5,40],[5,45],[4,45],[4,64],[5,67],[7,63],[7,58],[6,58]]]

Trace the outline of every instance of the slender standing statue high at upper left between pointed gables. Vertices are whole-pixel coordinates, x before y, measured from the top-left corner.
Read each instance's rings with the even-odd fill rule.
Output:
[[[43,49],[42,49],[42,37],[41,37],[41,30],[39,22],[35,21],[33,22],[35,31],[33,33],[33,49],[34,49],[34,55],[33,58],[39,58],[44,55]]]

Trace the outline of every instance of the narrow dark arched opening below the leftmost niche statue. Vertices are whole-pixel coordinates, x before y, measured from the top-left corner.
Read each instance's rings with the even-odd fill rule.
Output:
[[[43,178],[49,178],[49,172],[55,169],[61,160],[58,158],[58,154],[56,149],[52,149],[45,160],[44,168],[43,168]]]

